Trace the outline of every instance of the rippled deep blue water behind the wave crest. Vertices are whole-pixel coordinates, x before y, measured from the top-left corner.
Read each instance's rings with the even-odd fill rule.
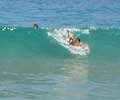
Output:
[[[120,26],[119,0],[4,0],[0,24],[47,27]]]

